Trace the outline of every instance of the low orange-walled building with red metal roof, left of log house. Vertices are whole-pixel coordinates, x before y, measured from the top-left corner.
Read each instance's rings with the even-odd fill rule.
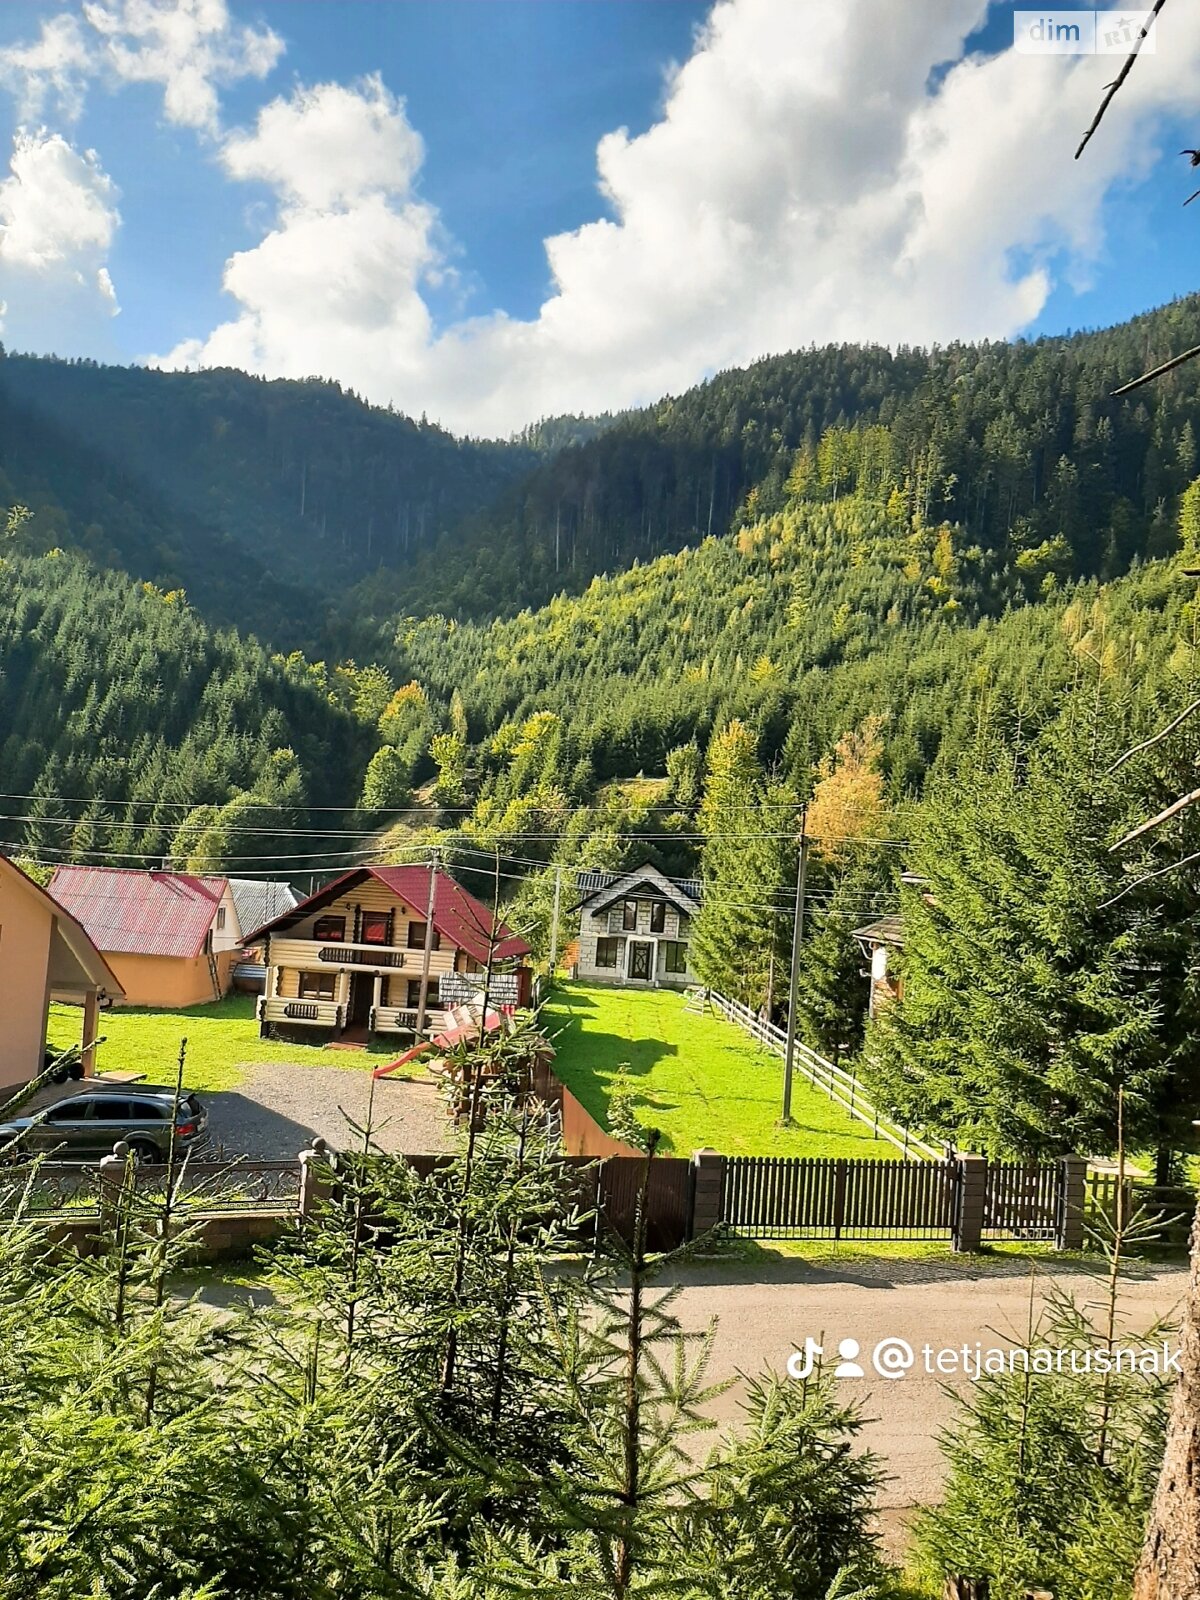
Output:
[[[56,867],[50,893],[88,930],[125,1005],[219,1000],[242,942],[229,880],[134,867]]]

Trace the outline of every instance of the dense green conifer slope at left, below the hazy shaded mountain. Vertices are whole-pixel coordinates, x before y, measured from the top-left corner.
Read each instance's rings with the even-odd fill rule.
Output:
[[[112,866],[181,846],[235,869],[294,856],[304,806],[341,805],[368,754],[322,672],[213,632],[178,594],[69,554],[0,565],[0,848]]]

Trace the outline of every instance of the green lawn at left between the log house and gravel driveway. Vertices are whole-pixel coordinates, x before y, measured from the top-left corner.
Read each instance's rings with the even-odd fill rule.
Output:
[[[58,1048],[78,1043],[78,1006],[50,1008],[50,1043]],[[232,1090],[242,1083],[243,1067],[259,1061],[294,1061],[304,1066],[378,1067],[406,1048],[402,1040],[370,1050],[330,1050],[320,1045],[282,1045],[258,1037],[253,995],[227,995],[214,1005],[187,1006],[184,1011],[157,1011],[122,1006],[102,1011],[99,1030],[104,1043],[96,1051],[96,1070],[144,1072],[152,1083],[174,1083],[179,1040],[187,1038],[184,1082],[189,1090]],[[405,1070],[398,1074],[405,1075]]]

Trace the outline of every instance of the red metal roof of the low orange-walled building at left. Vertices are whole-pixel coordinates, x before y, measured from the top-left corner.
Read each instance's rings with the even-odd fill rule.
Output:
[[[224,878],[133,867],[56,867],[54,899],[109,955],[198,955],[226,891]]]

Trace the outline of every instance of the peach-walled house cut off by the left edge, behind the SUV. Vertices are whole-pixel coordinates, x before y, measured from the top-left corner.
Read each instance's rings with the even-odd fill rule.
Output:
[[[101,1005],[122,998],[120,979],[80,922],[0,856],[0,1091],[42,1070],[51,1000],[82,1006],[83,1070],[91,1074]]]

